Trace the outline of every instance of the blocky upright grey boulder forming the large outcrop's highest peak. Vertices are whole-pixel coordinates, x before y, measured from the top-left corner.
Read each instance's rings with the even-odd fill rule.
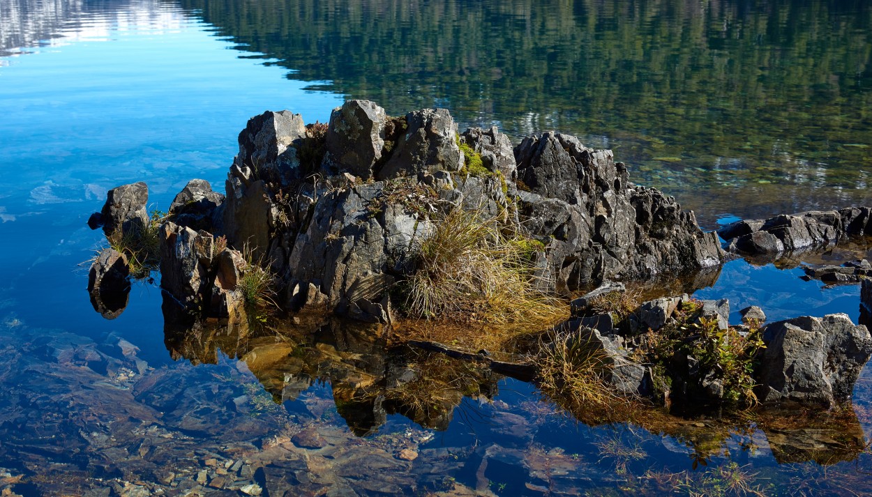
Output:
[[[369,100],[349,100],[330,114],[327,128],[324,170],[329,174],[347,171],[364,180],[385,146],[385,109]]]

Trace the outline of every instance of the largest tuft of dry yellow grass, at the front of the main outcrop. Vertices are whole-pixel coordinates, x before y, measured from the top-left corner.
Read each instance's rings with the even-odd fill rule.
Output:
[[[528,246],[495,219],[453,209],[414,249],[409,314],[521,326],[568,317],[566,303],[537,289]]]

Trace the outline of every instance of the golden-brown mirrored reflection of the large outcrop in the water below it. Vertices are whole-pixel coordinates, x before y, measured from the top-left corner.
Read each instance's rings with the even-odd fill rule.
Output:
[[[337,412],[364,436],[400,413],[447,429],[464,397],[492,398],[499,377],[487,366],[441,354],[390,348],[380,324],[306,317],[300,324],[252,327],[244,319],[194,319],[164,296],[164,342],[174,359],[215,364],[218,352],[246,364],[276,403],[330,384]]]

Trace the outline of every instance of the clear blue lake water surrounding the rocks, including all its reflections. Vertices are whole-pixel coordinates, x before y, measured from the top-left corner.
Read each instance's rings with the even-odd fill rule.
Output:
[[[0,0],[0,489],[872,494],[869,366],[843,412],[596,426],[345,323],[180,330],[148,283],[106,320],[81,266],[108,188],[221,189],[250,116],[346,98],[576,134],[707,228],[870,205],[870,58],[859,1]],[[801,274],[728,262],[696,296],[856,321],[858,287]]]

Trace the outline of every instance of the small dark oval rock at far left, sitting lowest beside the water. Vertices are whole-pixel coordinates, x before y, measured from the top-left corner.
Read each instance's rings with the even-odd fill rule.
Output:
[[[88,293],[101,316],[115,319],[125,310],[130,296],[129,275],[126,255],[114,249],[103,249],[94,259],[88,271]]]

